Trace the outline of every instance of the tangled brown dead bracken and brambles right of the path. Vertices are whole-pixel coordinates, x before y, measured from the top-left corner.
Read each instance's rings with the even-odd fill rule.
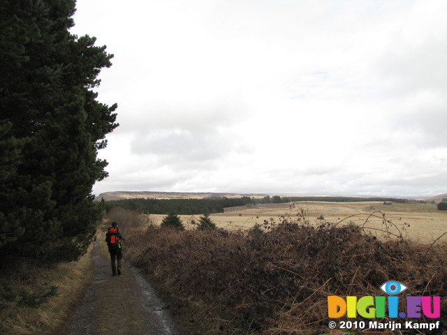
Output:
[[[127,258],[173,298],[191,334],[336,334],[327,297],[383,295],[390,280],[409,287],[401,297],[440,296],[446,311],[447,255],[438,242],[378,239],[357,225],[313,227],[300,217],[264,233],[151,226],[129,237]],[[444,317],[437,332],[445,327]]]

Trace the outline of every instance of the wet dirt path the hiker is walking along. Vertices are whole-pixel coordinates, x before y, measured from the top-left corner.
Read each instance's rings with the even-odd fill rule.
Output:
[[[136,269],[124,263],[112,276],[105,248],[94,243],[94,275],[64,335],[178,335],[170,313]],[[126,257],[124,253],[124,258]]]

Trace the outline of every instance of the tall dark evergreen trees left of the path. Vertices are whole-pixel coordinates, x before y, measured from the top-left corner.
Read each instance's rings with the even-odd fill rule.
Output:
[[[70,34],[74,0],[0,2],[0,256],[75,260],[100,210],[91,187],[116,105],[92,91],[112,54]]]

